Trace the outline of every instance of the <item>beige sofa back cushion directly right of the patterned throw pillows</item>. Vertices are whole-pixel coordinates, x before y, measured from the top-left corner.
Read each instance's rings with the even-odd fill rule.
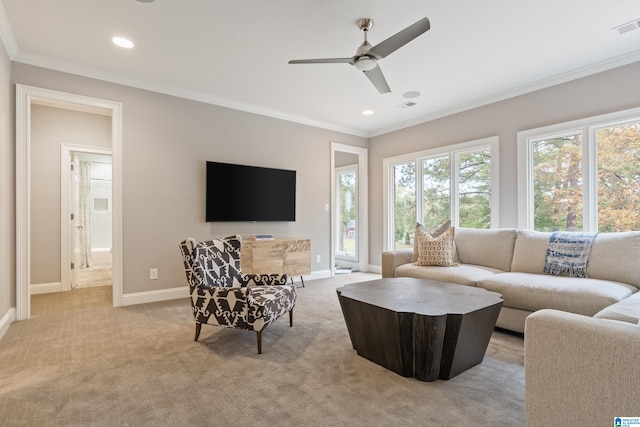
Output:
[[[455,244],[460,262],[509,271],[516,230],[513,228],[456,228]]]

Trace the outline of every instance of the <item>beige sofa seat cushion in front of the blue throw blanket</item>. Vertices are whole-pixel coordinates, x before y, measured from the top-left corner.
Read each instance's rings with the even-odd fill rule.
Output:
[[[478,287],[502,294],[505,307],[530,311],[553,308],[585,316],[593,316],[637,291],[620,282],[514,272],[484,278]]]

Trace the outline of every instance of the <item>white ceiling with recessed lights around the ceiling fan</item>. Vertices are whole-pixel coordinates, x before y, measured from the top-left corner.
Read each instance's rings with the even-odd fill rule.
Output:
[[[640,30],[612,31],[640,20],[638,0],[1,1],[14,61],[361,136],[640,61]],[[354,55],[360,18],[376,45],[425,16],[380,61],[391,93],[348,64],[287,64]]]

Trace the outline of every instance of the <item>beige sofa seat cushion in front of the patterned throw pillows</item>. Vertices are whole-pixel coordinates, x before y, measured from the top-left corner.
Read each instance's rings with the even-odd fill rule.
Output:
[[[395,277],[415,277],[417,279],[431,279],[459,285],[476,286],[479,280],[498,273],[502,273],[502,270],[471,264],[460,264],[458,267],[404,264],[396,268]]]

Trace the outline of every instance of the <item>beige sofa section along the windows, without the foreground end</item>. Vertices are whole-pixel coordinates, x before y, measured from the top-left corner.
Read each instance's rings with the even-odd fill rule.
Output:
[[[640,298],[634,295],[640,288],[640,232],[599,233],[589,254],[587,278],[544,273],[550,235],[456,228],[458,266],[414,265],[413,250],[401,249],[382,254],[382,276],[433,279],[498,292],[504,303],[496,325],[515,332],[524,332],[527,316],[542,309],[637,324]]]

